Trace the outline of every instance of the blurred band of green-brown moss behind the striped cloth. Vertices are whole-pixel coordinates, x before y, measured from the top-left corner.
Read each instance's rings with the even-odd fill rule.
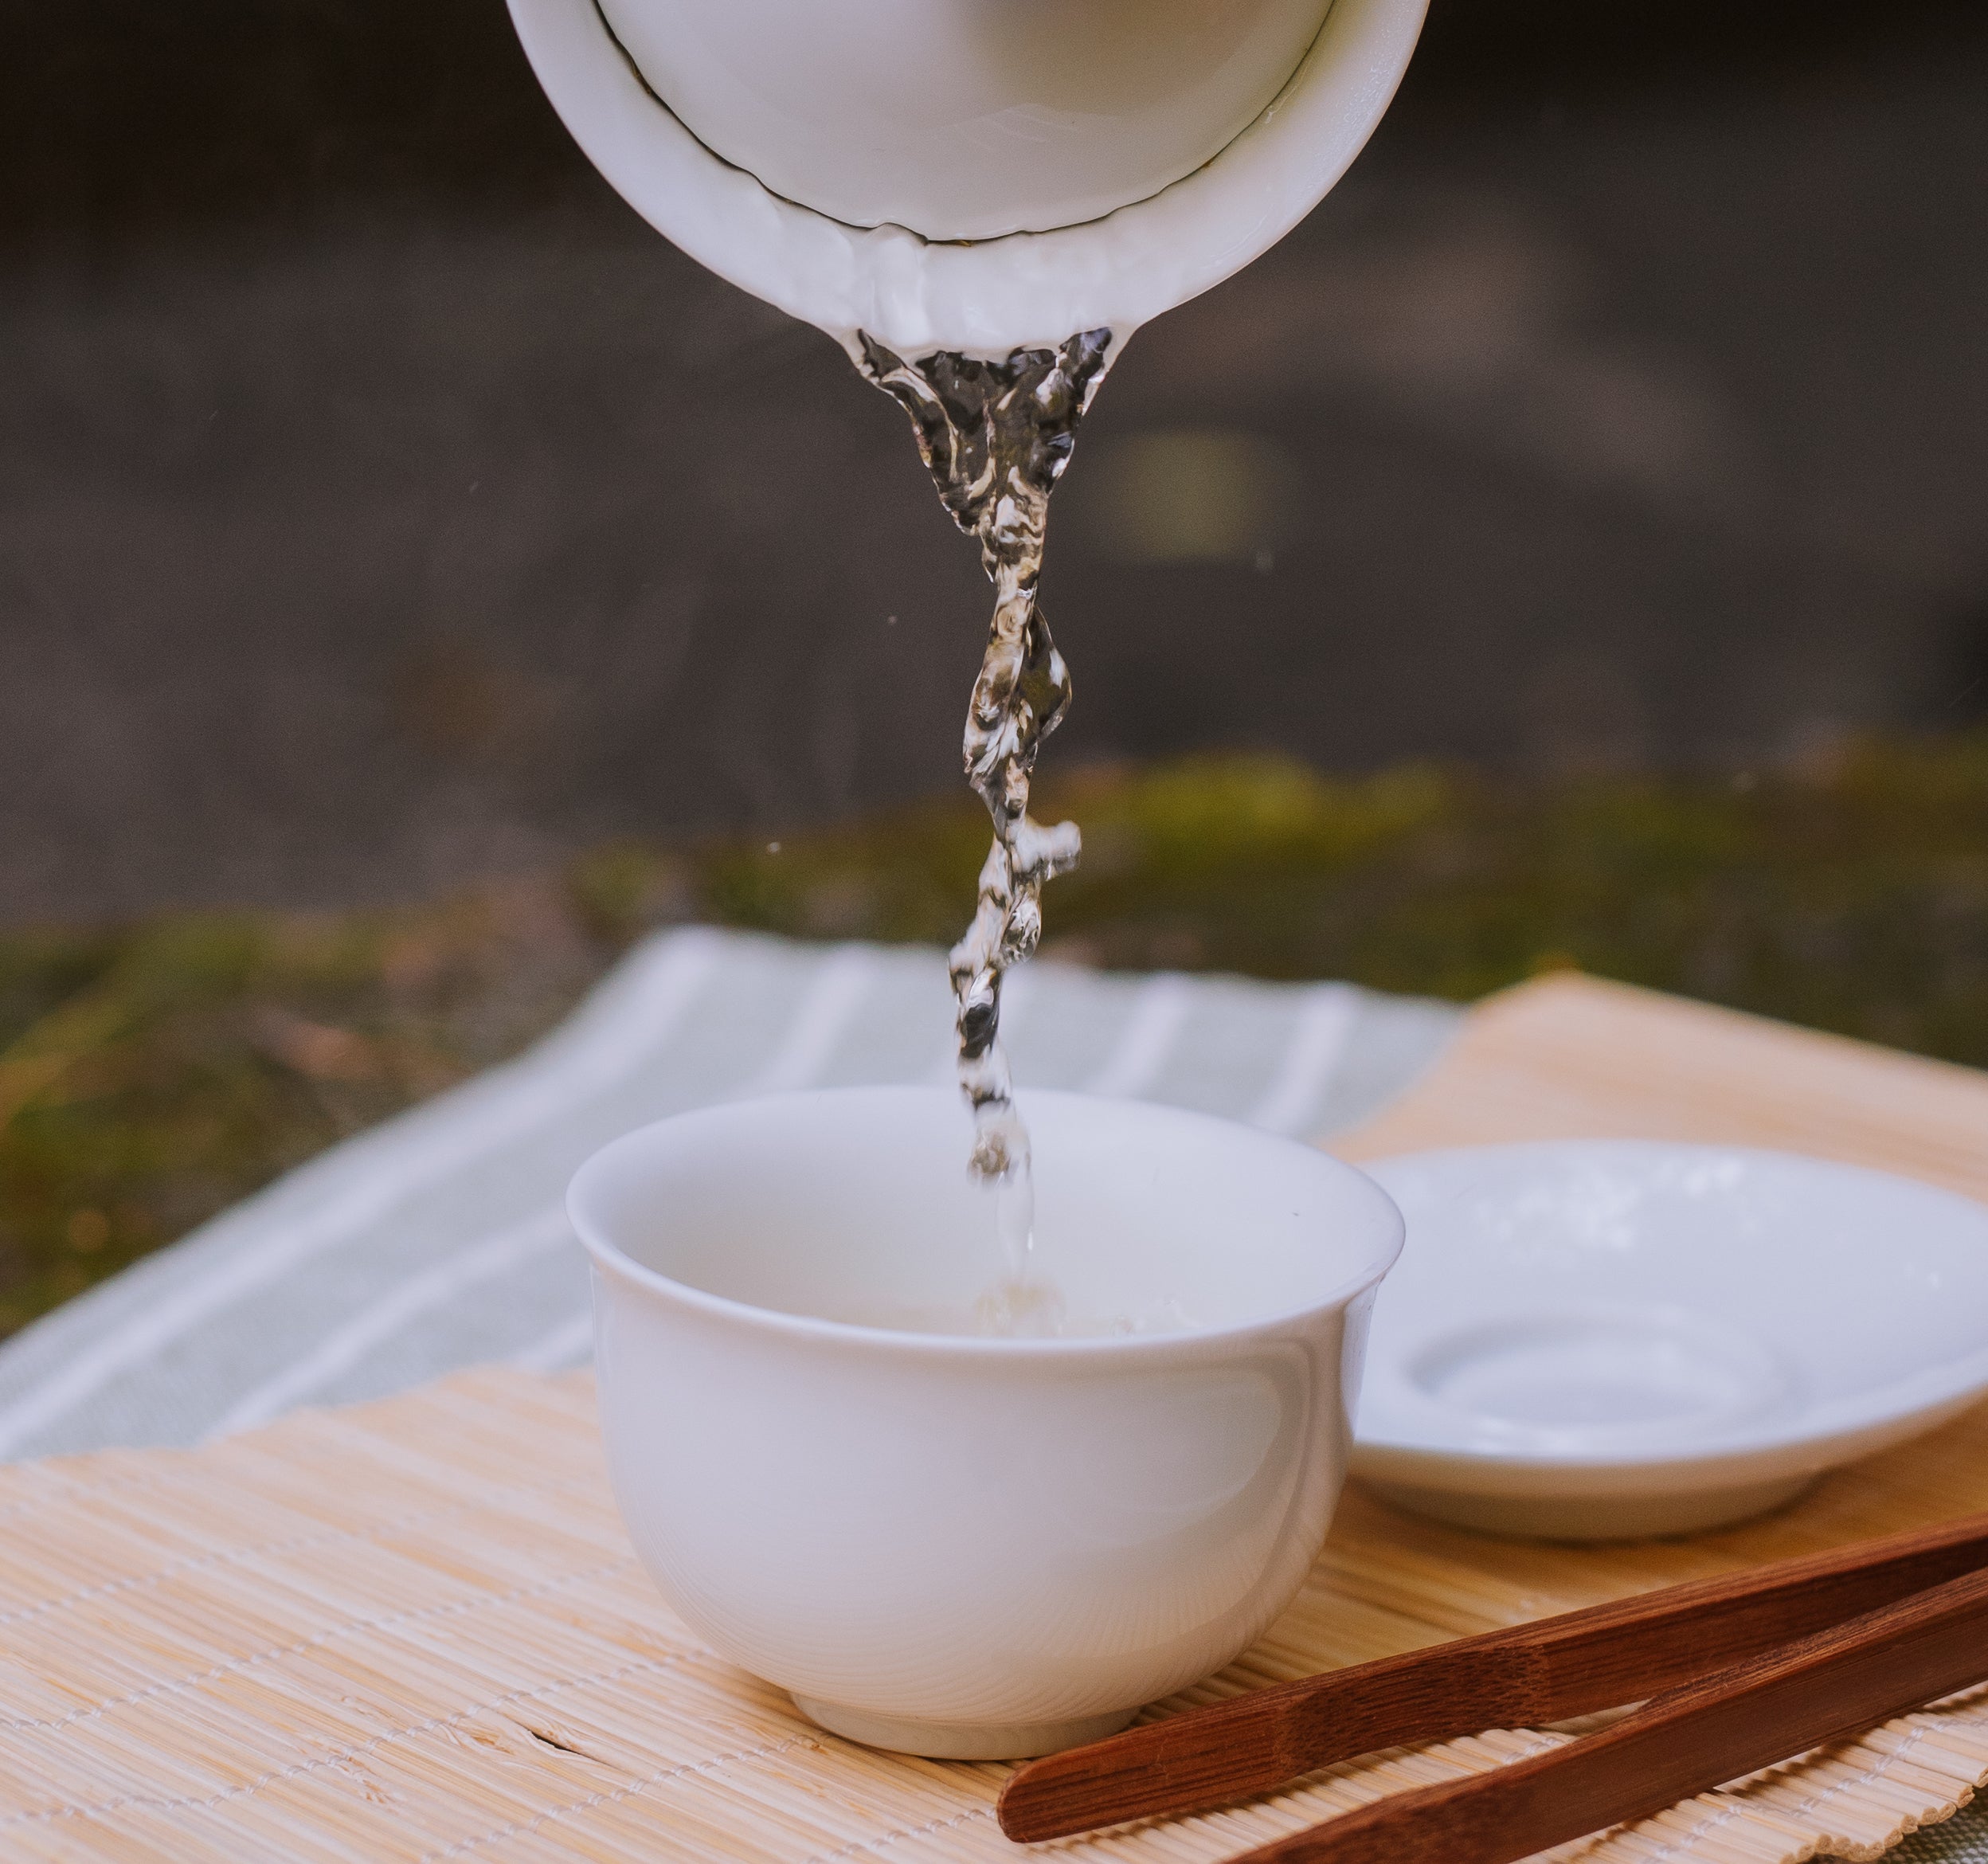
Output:
[[[1038,813],[1085,841],[1054,956],[1465,1002],[1578,966],[1988,1065],[1988,737],[1757,777],[1199,757],[1050,775]],[[962,795],[402,912],[0,934],[0,1331],[515,1051],[652,926],[944,944],[984,853]]]

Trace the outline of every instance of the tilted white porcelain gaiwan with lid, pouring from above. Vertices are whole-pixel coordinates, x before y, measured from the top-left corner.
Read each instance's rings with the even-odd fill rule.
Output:
[[[901,356],[1117,346],[1346,171],[1427,0],[511,0],[594,165],[734,284]]]

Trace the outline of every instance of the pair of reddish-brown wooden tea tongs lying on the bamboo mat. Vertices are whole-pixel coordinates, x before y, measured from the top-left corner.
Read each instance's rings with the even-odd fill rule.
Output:
[[[1594,1735],[1421,1786],[1248,1864],[1509,1864],[1988,1679],[1988,1514],[1483,1631],[1032,1761],[1016,1840],[1193,1812],[1314,1767],[1622,1703]],[[1241,1860],[1239,1860],[1241,1864]]]

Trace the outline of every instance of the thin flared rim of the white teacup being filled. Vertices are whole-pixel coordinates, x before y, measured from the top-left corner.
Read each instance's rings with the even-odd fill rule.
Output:
[[[1268,1314],[1258,1314],[1244,1321],[1233,1321],[1223,1327],[1181,1327],[1171,1333],[1089,1333],[1072,1339],[1016,1339],[1002,1335],[982,1335],[982,1333],[909,1333],[897,1327],[865,1327],[855,1321],[823,1320],[813,1314],[789,1314],[781,1308],[759,1308],[751,1302],[738,1302],[724,1294],[712,1294],[710,1290],[696,1288],[690,1282],[678,1282],[674,1276],[666,1276],[660,1270],[648,1268],[636,1262],[634,1256],[626,1254],[616,1244],[608,1242],[600,1234],[598,1226],[590,1220],[586,1212],[586,1196],[590,1190],[590,1180],[608,1168],[612,1155],[624,1151],[636,1151],[652,1133],[662,1127],[682,1127],[696,1121],[708,1121],[724,1115],[736,1115],[746,1107],[767,1105],[773,1101],[793,1103],[793,1101],[821,1101],[821,1099],[841,1099],[845,1095],[918,1095],[936,1097],[952,1095],[946,1087],[912,1087],[903,1083],[879,1083],[873,1087],[805,1087],[791,1093],[757,1095],[749,1101],[722,1101],[716,1107],[692,1107],[684,1113],[672,1113],[664,1119],[648,1121],[630,1133],[622,1133],[620,1139],[610,1139],[604,1147],[588,1155],[580,1168],[573,1174],[573,1182],[567,1188],[567,1216],[573,1220],[573,1228],[580,1238],[582,1248],[592,1258],[594,1266],[608,1276],[616,1276],[636,1288],[644,1288],[650,1294],[658,1294],[670,1302],[684,1308],[692,1308],[700,1314],[708,1314],[716,1320],[726,1320],[736,1325],[747,1325],[755,1331],[787,1333],[795,1339],[809,1339],[815,1343],[843,1343],[851,1347],[863,1347],[867,1351],[893,1351],[907,1353],[912,1357],[928,1359],[956,1359],[966,1353],[972,1357],[994,1357],[994,1359],[1083,1359],[1083,1357],[1175,1357],[1189,1355],[1199,1357],[1205,1349],[1219,1347],[1227,1351],[1237,1343],[1244,1343],[1256,1335],[1272,1335],[1288,1331],[1292,1321],[1302,1321],[1312,1316],[1334,1314],[1348,1308],[1370,1288],[1378,1288],[1386,1278],[1388,1270],[1402,1256],[1402,1246],[1408,1234],[1408,1226],[1402,1220],[1402,1212],[1396,1208],[1392,1196],[1382,1190],[1364,1170],[1348,1165],[1344,1159],[1336,1159],[1332,1153],[1324,1153],[1318,1147],[1304,1145],[1296,1139],[1286,1139],[1278,1133],[1262,1133],[1256,1127],[1244,1127],[1239,1121],[1217,1119],[1211,1113],[1197,1113],[1189,1107],[1169,1107],[1159,1101],[1125,1101],[1115,1103],[1101,1095],[1081,1095],[1081,1093],[1062,1093],[1056,1089],[1024,1091],[1016,1095],[1016,1103],[1030,1113],[1032,1119],[1040,1119],[1042,1111],[1054,1107],[1056,1101],[1077,1101],[1083,1105],[1125,1105],[1137,1107],[1139,1115],[1151,1115],[1157,1121],[1191,1123],[1199,1127],[1219,1127],[1225,1133],[1246,1133],[1252,1141],[1264,1147],[1276,1147],[1300,1155],[1308,1165],[1324,1166],[1332,1176],[1344,1176],[1356,1188],[1356,1194],[1370,1200],[1374,1214],[1384,1220],[1388,1238],[1380,1244],[1366,1262],[1364,1268],[1346,1276],[1340,1282],[1330,1284],[1320,1296],[1308,1302],[1300,1302],[1296,1308],[1278,1308]],[[964,1153],[960,1161],[964,1170]]]

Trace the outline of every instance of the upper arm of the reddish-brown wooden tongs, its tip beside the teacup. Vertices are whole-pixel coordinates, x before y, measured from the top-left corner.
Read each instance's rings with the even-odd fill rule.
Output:
[[[1062,1838],[1223,1804],[1382,1747],[1612,1709],[1984,1564],[1988,1514],[1976,1514],[1302,1677],[1032,1761],[1000,1796],[1000,1826],[1018,1842]]]

